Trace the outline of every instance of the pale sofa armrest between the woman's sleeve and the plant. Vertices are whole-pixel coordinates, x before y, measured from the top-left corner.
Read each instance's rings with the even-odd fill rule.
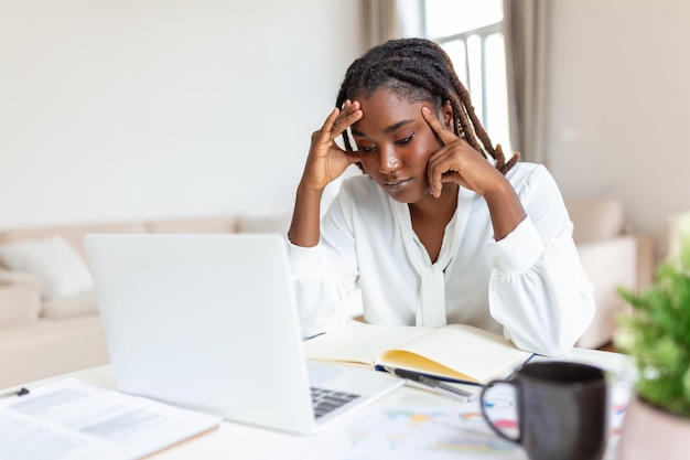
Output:
[[[618,287],[636,289],[638,279],[637,238],[622,236],[578,245],[582,268],[594,285],[594,319],[576,345],[602,346],[613,339],[617,317],[629,307],[619,298]]]

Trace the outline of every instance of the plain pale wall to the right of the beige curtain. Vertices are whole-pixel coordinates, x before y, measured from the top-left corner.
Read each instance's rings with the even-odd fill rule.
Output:
[[[690,211],[690,2],[550,3],[550,170],[565,196],[621,197],[662,253]]]

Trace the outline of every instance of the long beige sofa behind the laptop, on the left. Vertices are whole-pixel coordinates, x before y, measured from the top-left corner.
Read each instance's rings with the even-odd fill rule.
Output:
[[[87,233],[284,234],[288,225],[287,215],[220,215],[0,231],[0,388],[108,363],[95,296],[79,280]]]

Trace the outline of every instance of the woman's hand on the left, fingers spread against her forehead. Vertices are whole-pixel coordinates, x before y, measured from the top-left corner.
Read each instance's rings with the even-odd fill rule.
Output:
[[[320,130],[312,135],[309,157],[302,174],[301,188],[313,192],[323,189],[337,179],[352,163],[359,161],[359,154],[341,149],[335,139],[363,116],[358,101],[346,100],[343,109],[334,108]]]

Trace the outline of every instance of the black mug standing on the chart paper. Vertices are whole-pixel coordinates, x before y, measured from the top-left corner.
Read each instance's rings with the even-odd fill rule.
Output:
[[[515,388],[517,436],[494,425],[486,413],[490,387]],[[597,367],[558,361],[528,363],[510,381],[482,391],[482,414],[500,437],[525,449],[530,460],[601,460],[608,438],[606,376]]]

